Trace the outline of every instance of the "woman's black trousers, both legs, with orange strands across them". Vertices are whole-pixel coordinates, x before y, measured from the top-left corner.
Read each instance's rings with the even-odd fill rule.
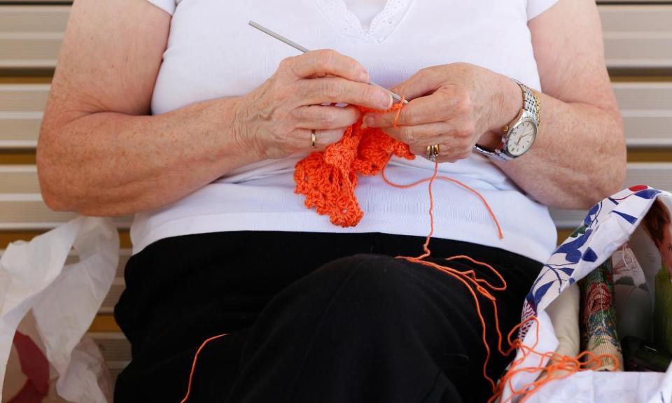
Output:
[[[131,257],[116,320],[132,344],[116,402],[483,402],[482,327],[465,286],[395,259],[423,238],[389,234],[225,232],[163,239]],[[519,322],[542,264],[497,248],[433,239],[430,260],[469,255],[507,281],[503,332]],[[475,269],[467,261],[455,269]],[[481,298],[493,353],[493,311]]]

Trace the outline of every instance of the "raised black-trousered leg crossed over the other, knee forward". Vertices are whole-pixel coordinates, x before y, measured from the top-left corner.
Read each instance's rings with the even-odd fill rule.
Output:
[[[481,269],[462,262],[451,262],[450,266],[461,271]],[[501,330],[506,334],[519,321],[524,295],[534,276],[505,265],[497,269],[510,284],[505,292],[493,292],[498,299]],[[497,281],[488,271],[480,271],[478,276]],[[489,376],[496,379],[506,359],[495,352],[498,340],[492,306],[484,298],[479,298],[479,303],[493,351]],[[390,256],[355,255],[325,264],[280,292],[251,333],[231,402],[248,401],[244,397],[249,397],[252,385],[259,382],[264,390],[291,395],[292,401],[353,402],[367,389],[358,379],[366,368],[370,369],[366,382],[375,386],[371,393],[378,399],[386,385],[395,384],[395,395],[386,397],[386,402],[421,401],[432,388],[437,367],[456,383],[466,401],[487,396],[490,388],[482,376],[482,325],[468,288],[437,269]],[[288,351],[277,354],[268,343]],[[262,363],[270,360],[286,370],[268,371]],[[329,361],[337,361],[337,367]],[[316,367],[320,371],[310,370]],[[377,374],[374,379],[372,373]],[[353,384],[358,385],[354,388],[358,396],[347,395],[342,388],[330,390],[334,385],[349,385],[352,390]],[[307,388],[311,394],[292,385],[311,385]],[[249,401],[270,397],[263,393],[255,390]],[[320,393],[327,393],[332,400]],[[337,394],[342,397],[335,399]]]

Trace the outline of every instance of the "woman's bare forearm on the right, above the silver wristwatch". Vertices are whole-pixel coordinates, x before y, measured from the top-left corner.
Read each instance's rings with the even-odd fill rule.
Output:
[[[510,88],[520,99],[517,85]],[[622,188],[626,147],[618,113],[546,94],[540,97],[542,122],[531,150],[517,160],[493,162],[548,206],[587,208]],[[519,101],[506,108],[512,120]]]

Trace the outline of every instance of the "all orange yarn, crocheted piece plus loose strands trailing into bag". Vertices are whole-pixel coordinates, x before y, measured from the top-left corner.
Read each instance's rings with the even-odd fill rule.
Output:
[[[403,102],[400,102],[395,104],[390,109],[390,111],[398,111],[395,117],[395,127],[402,107]],[[365,113],[371,112],[373,110],[360,107],[360,111],[362,112],[362,115],[364,115]],[[495,214],[484,197],[476,190],[468,187],[460,181],[456,181],[455,179],[448,178],[446,176],[437,176],[439,167],[438,163],[435,163],[434,172],[430,178],[416,181],[408,185],[398,185],[392,183],[388,180],[388,178],[386,178],[384,172],[391,155],[405,157],[408,160],[412,160],[415,157],[412,155],[412,153],[410,153],[410,150],[406,144],[392,139],[381,129],[370,127],[363,128],[362,118],[360,118],[360,120],[358,120],[355,125],[352,125],[346,129],[346,132],[340,141],[328,146],[324,152],[311,153],[308,157],[304,158],[304,160],[301,160],[296,164],[294,173],[294,179],[296,183],[295,193],[304,195],[306,197],[305,205],[307,208],[314,207],[316,208],[317,213],[322,215],[329,215],[330,221],[334,225],[351,227],[357,225],[364,215],[354,194],[354,190],[357,188],[358,174],[372,176],[381,173],[383,180],[395,188],[411,188],[413,186],[419,185],[420,183],[427,181],[429,182],[428,192],[430,206],[428,213],[430,218],[430,232],[427,235],[425,242],[423,243],[423,253],[417,257],[398,256],[398,258],[440,270],[445,274],[456,278],[456,280],[463,283],[469,290],[474,299],[477,316],[482,326],[481,336],[484,348],[486,350],[486,358],[483,362],[482,369],[483,376],[487,381],[489,381],[493,391],[493,396],[488,400],[488,403],[492,403],[500,399],[506,386],[512,390],[512,395],[509,397],[509,399],[506,400],[506,402],[502,403],[507,403],[517,396],[521,396],[521,400],[519,400],[519,402],[524,402],[528,397],[530,397],[546,383],[549,383],[554,379],[566,378],[567,376],[575,374],[576,372],[590,369],[591,367],[594,367],[594,365],[603,365],[603,362],[605,362],[605,359],[607,358],[612,360],[611,362],[615,362],[615,368],[618,367],[618,359],[614,355],[594,355],[594,353],[590,353],[588,351],[580,353],[580,355],[577,355],[577,357],[567,357],[554,352],[538,353],[534,350],[539,339],[538,325],[535,327],[537,337],[533,346],[525,346],[522,340],[519,338],[512,340],[512,335],[515,332],[518,332],[518,330],[526,325],[526,323],[529,321],[535,321],[538,324],[538,320],[534,316],[524,320],[522,323],[519,323],[509,332],[507,335],[507,342],[510,347],[507,349],[507,351],[504,351],[502,346],[503,336],[499,327],[497,299],[493,296],[492,292],[504,291],[506,290],[507,285],[506,281],[498,273],[498,271],[496,271],[496,269],[491,267],[489,264],[479,262],[469,256],[456,255],[446,258],[447,261],[458,259],[469,260],[472,263],[490,269],[501,283],[501,285],[493,285],[482,278],[477,278],[474,270],[459,271],[451,267],[442,266],[434,262],[423,260],[424,258],[429,257],[431,254],[429,249],[429,242],[434,232],[434,197],[432,189],[435,180],[440,179],[442,181],[455,183],[479,197],[496,225],[498,237],[502,239],[502,229]],[[521,358],[512,362],[509,370],[499,379],[497,383],[495,383],[495,381],[493,381],[493,379],[491,379],[486,372],[491,350],[486,339],[487,324],[481,312],[478,295],[488,299],[493,306],[493,313],[495,317],[494,325],[497,334],[497,351],[504,356],[513,353],[517,349],[523,351]],[[204,348],[204,346],[210,341],[225,335],[226,334],[220,334],[215,337],[210,337],[209,339],[205,340],[201,344],[200,348],[198,348],[196,351],[192,369],[189,375],[187,393],[181,403],[185,403],[190,395],[196,362],[199,353],[202,351],[202,348]],[[524,360],[526,360],[531,355],[538,356],[539,364],[531,367],[521,367],[522,362],[524,362]],[[549,364],[543,366],[541,364],[545,358],[549,359]],[[513,390],[513,376],[521,372],[535,373],[538,371],[543,371],[543,373],[542,376],[540,376],[536,381],[523,386],[519,390]]]

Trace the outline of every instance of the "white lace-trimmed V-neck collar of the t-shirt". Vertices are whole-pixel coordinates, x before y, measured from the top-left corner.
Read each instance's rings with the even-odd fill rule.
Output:
[[[343,35],[367,42],[384,41],[401,22],[413,0],[387,0],[369,29],[365,30],[359,18],[343,0],[315,0],[325,18]]]

